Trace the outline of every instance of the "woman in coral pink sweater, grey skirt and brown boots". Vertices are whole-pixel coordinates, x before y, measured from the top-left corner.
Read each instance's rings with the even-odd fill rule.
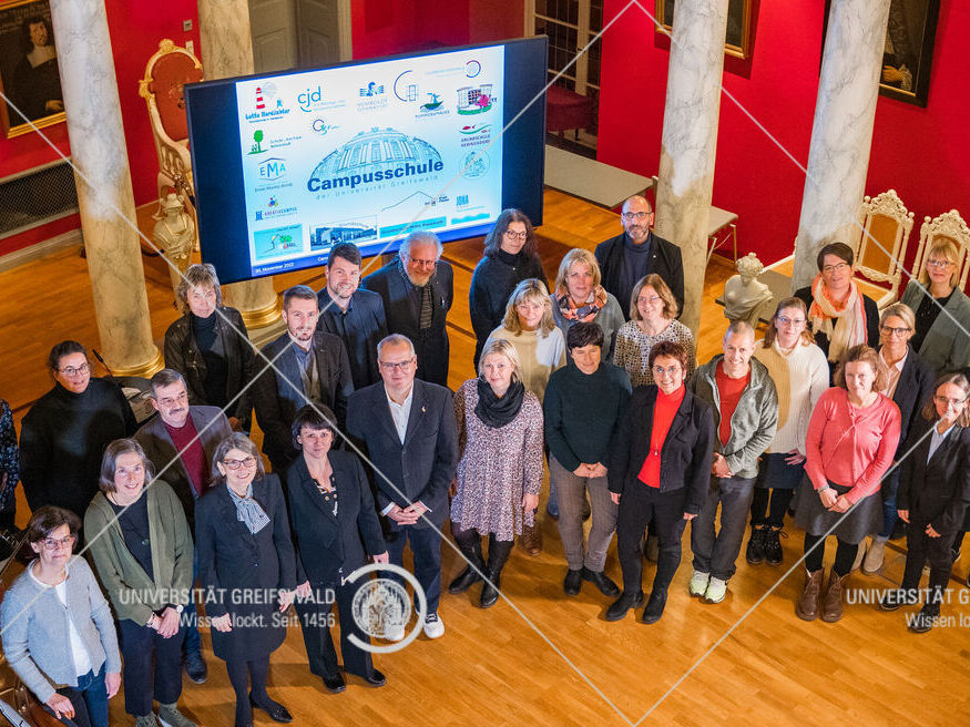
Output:
[[[879,393],[886,368],[874,348],[854,346],[836,370],[837,386],[819,398],[808,421],[805,474],[795,522],[805,529],[805,588],[799,618],[819,612],[825,536],[838,540],[835,564],[821,598],[821,620],[843,616],[843,594],[859,543],[882,526],[882,475],[899,444],[899,407]]]

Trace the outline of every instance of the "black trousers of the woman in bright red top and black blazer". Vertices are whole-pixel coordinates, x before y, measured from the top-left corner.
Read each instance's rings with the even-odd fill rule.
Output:
[[[661,492],[642,483],[633,483],[620,498],[616,519],[616,552],[623,569],[623,592],[637,593],[643,588],[643,555],[640,541],[647,523],[651,534],[657,536],[660,553],[653,591],[666,591],[681,564],[681,536],[684,534],[685,490]]]

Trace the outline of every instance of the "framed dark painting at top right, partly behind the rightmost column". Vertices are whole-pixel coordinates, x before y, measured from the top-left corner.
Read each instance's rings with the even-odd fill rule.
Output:
[[[826,32],[830,4],[830,0],[826,0]],[[940,0],[890,0],[879,75],[880,95],[926,107],[939,16]]]

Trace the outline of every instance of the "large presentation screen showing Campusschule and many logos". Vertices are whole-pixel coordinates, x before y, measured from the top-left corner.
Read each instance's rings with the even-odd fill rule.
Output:
[[[535,38],[186,86],[203,260],[231,283],[341,242],[482,235],[509,206],[541,223],[545,53]]]

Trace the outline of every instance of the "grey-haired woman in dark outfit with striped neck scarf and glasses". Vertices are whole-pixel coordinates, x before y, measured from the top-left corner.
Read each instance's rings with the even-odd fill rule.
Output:
[[[212,651],[236,693],[236,727],[252,726],[252,707],[293,721],[266,694],[269,654],[286,636],[282,612],[296,594],[289,521],[279,478],[263,471],[245,434],[227,437],[213,454],[212,489],[195,505],[195,549]]]

